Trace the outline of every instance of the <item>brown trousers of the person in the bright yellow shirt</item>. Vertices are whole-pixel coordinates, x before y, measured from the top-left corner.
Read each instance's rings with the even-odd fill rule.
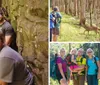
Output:
[[[73,76],[73,85],[85,85],[85,75]]]

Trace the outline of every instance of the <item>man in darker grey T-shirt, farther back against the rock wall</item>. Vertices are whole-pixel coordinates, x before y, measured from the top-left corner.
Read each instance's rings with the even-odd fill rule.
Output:
[[[4,33],[5,44],[18,51],[18,47],[16,45],[16,33],[4,16],[5,14],[2,8],[0,8],[0,31]]]

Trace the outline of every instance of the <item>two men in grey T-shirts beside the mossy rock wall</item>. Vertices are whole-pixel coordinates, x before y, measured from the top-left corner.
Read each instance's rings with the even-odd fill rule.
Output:
[[[18,53],[16,33],[0,8],[0,85],[33,85],[33,75]]]

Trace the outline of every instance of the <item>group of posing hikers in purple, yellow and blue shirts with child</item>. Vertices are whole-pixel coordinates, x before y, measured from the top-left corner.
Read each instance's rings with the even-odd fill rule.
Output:
[[[62,48],[59,54],[56,54],[56,77],[60,85],[69,85],[73,80],[73,85],[98,85],[100,79],[100,61],[94,55],[91,48],[86,50],[73,48],[69,54]]]

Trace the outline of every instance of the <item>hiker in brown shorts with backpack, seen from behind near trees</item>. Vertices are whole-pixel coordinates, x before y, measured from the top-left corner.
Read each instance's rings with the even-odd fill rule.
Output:
[[[54,20],[54,28],[52,29],[52,34],[53,34],[52,41],[57,41],[62,15],[60,14],[59,8],[57,6],[54,7],[53,11],[55,12],[55,14],[53,15],[55,20]]]

